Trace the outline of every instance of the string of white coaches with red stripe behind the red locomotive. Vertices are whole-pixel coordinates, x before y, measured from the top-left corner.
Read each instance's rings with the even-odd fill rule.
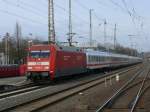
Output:
[[[110,52],[86,50],[86,61],[88,69],[104,67],[117,67],[122,65],[135,64],[142,61],[142,58],[115,54]]]

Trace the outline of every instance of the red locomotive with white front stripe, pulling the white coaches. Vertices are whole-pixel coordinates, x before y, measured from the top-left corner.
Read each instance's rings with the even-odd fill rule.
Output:
[[[79,48],[33,45],[27,58],[28,78],[42,79],[78,74],[86,70],[86,54]]]

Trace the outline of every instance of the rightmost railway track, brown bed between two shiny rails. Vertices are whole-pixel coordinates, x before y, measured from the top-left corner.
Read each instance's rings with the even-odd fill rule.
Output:
[[[144,78],[142,75],[145,75]],[[137,72],[126,84],[113,94],[96,112],[135,112],[140,97],[150,88],[150,68]],[[140,77],[140,78],[139,78]]]

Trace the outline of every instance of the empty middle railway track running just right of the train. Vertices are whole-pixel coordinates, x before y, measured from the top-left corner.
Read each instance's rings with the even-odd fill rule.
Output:
[[[87,82],[84,82],[82,84],[79,84],[79,85],[76,85],[76,86],[73,86],[70,88],[66,88],[66,89],[61,90],[61,91],[57,91],[57,92],[52,93],[50,95],[38,98],[36,100],[31,100],[29,102],[26,102],[26,103],[23,103],[20,105],[16,105],[16,106],[9,108],[9,109],[11,109],[11,111],[27,111],[27,112],[33,112],[34,111],[34,112],[36,112],[36,111],[39,111],[40,109],[43,109],[49,105],[55,104],[57,102],[60,102],[62,100],[67,99],[68,97],[71,97],[75,94],[78,94],[81,91],[84,91],[84,90],[87,90],[87,89],[92,88],[94,86],[97,86],[99,84],[102,84],[105,82],[105,78],[110,77],[110,75],[111,75],[111,78],[115,78],[116,74],[123,75],[123,74],[125,74],[131,70],[134,70],[134,69],[135,69],[135,67],[126,69],[124,71],[116,71],[113,73],[108,73],[106,76],[99,77],[97,79],[87,81]],[[9,111],[9,109],[7,109],[6,111]]]

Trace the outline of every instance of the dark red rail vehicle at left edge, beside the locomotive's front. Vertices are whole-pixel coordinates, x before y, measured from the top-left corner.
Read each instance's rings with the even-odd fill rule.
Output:
[[[26,64],[0,65],[0,78],[24,76],[25,74],[26,74]]]

